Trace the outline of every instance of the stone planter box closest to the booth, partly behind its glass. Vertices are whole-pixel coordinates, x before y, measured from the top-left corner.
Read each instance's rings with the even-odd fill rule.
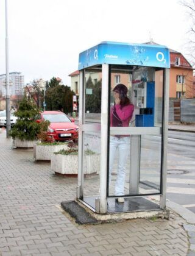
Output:
[[[84,174],[99,174],[100,154],[84,155]],[[77,175],[78,155],[52,154],[51,169],[55,174]]]

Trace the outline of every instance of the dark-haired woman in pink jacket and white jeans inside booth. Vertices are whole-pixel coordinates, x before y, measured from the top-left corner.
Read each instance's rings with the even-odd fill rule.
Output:
[[[115,105],[111,108],[110,126],[128,127],[132,118],[134,105],[127,98],[127,87],[124,84],[118,84],[113,89]],[[112,166],[115,160],[116,149],[118,149],[118,172],[115,183],[115,195],[118,202],[123,203],[124,182],[126,178],[126,163],[130,152],[130,135],[111,135],[110,136],[110,170],[109,183],[111,182]]]

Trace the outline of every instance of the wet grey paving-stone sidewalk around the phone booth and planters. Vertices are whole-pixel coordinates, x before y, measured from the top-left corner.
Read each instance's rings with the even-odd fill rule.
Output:
[[[0,255],[187,255],[193,227],[174,212],[166,219],[132,219],[79,226],[60,210],[76,196],[77,179],[55,176],[32,150],[11,148],[0,133]],[[91,179],[85,181],[91,183]],[[185,226],[186,227],[186,226]],[[189,233],[191,232],[191,233]],[[193,255],[193,248],[188,255]]]

